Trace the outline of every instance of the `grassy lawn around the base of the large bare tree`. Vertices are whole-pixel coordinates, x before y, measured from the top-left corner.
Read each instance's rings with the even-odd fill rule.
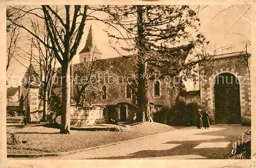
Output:
[[[59,129],[34,126],[7,126],[7,132],[16,133],[26,144],[13,145],[7,138],[8,154],[56,153],[116,143],[127,139],[153,135],[174,130],[174,127],[145,122],[129,126],[123,132],[71,130],[70,134],[59,134]]]

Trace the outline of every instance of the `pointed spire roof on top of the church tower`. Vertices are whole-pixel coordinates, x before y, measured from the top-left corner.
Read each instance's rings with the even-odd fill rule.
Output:
[[[95,44],[94,41],[94,36],[93,36],[93,30],[92,30],[92,24],[90,26],[88,35],[87,35],[87,40],[86,40],[86,45],[83,47],[83,49],[79,52],[84,53],[84,52],[94,52],[98,54],[102,54],[100,50],[98,49],[97,45]]]

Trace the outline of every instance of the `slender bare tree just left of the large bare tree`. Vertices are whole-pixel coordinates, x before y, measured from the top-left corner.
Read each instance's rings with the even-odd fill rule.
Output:
[[[56,8],[56,11],[58,9]],[[32,30],[34,34],[40,37],[44,43],[50,44],[50,37],[47,34],[46,24],[44,22],[39,23],[38,18],[30,19]],[[57,23],[55,22],[55,25]],[[47,107],[48,107],[48,98],[51,95],[52,88],[52,76],[56,72],[56,58],[53,53],[53,50],[46,47],[42,44],[38,39],[35,39],[34,36],[30,39],[30,43],[33,48],[31,48],[31,52],[26,51],[25,49],[20,48],[20,51],[24,53],[18,54],[20,58],[25,60],[31,60],[30,66],[33,68],[28,68],[31,73],[35,75],[37,78],[36,82],[38,82],[40,86],[40,99],[43,101],[43,112],[42,112],[42,122],[46,122],[47,119]],[[32,51],[34,50],[34,51]],[[34,53],[35,52],[35,53]]]

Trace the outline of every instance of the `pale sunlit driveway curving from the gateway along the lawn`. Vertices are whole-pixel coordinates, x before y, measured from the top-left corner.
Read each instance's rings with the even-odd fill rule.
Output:
[[[211,159],[200,155],[198,151],[202,148],[223,150],[230,142],[222,140],[225,136],[197,134],[222,129],[225,128],[196,129],[188,127],[112,146],[51,157],[51,159]],[[208,140],[214,142],[204,143]],[[193,142],[198,142],[198,145]]]

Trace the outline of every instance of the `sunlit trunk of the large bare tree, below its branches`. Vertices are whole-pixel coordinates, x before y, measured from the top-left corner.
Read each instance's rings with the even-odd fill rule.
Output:
[[[70,133],[70,63],[68,60],[62,64],[62,111],[60,133]]]

